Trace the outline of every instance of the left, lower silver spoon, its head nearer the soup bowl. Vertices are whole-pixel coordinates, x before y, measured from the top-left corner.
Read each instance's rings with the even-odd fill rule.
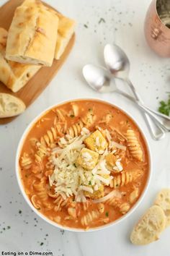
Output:
[[[148,114],[153,118],[153,120],[157,122],[157,120],[155,119],[155,116],[150,111],[148,111],[148,109],[145,108],[145,106],[143,106],[142,104],[139,104],[138,101],[136,101],[135,98],[128,95],[128,93],[125,93],[122,90],[117,88],[116,81],[119,79],[111,78],[110,74],[107,72],[107,69],[104,69],[102,67],[96,67],[93,64],[87,64],[83,68],[83,74],[86,82],[94,90],[97,90],[99,93],[106,93],[106,92],[113,92],[113,91],[115,91],[116,93],[120,93],[120,95],[125,96],[126,98],[130,99],[130,101],[137,103],[139,108],[142,108],[144,111],[147,111]],[[165,132],[163,129],[161,129],[160,135],[157,135],[155,140],[161,140],[164,137],[164,135],[165,135]]]

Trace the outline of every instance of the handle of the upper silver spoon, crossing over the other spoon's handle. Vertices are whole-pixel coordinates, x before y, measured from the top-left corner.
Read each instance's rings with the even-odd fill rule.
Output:
[[[138,106],[140,106],[140,108],[143,108],[143,104],[142,104],[142,101],[140,100],[140,96],[136,92],[132,82],[130,80],[127,80],[127,82],[128,82],[128,85],[130,86],[131,90],[133,91],[135,99],[137,100],[136,103],[138,103]],[[165,132],[162,127],[162,123],[159,122],[158,119],[156,119],[156,117],[153,116],[153,114],[151,114],[148,110],[146,110],[146,109],[143,109],[143,110],[145,111],[143,113],[143,116],[146,120],[146,124],[149,128],[151,136],[153,137],[154,140],[161,140],[165,135]]]

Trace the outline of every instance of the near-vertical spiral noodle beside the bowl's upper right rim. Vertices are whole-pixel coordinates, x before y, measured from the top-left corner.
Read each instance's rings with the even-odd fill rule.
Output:
[[[133,158],[137,159],[138,161],[143,161],[143,150],[133,129],[127,130],[126,137],[128,140],[128,149],[130,150]]]

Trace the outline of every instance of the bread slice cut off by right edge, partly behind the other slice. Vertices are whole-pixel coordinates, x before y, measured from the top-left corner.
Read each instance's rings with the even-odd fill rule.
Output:
[[[170,226],[170,189],[161,189],[156,196],[154,204],[164,210],[166,215],[166,227]]]

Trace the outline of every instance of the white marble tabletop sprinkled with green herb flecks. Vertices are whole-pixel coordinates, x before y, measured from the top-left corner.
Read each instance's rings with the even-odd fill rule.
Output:
[[[1,4],[4,2],[1,0]],[[153,202],[158,189],[170,186],[170,136],[166,135],[160,142],[153,141],[143,117],[133,103],[116,94],[95,93],[86,85],[81,74],[81,68],[86,63],[103,64],[104,44],[115,41],[125,49],[130,58],[130,78],[143,100],[156,109],[158,101],[168,97],[169,59],[156,56],[146,45],[143,35],[143,21],[149,1],[47,2],[77,20],[76,44],[66,64],[37,101],[22,116],[0,127],[0,253],[3,249],[6,252],[17,252],[18,249],[22,252],[53,252],[55,256],[169,256],[170,229],[164,231],[158,242],[145,247],[130,244],[129,234],[134,223]],[[105,22],[99,23],[101,18]],[[117,103],[133,114],[151,145],[153,176],[146,197],[128,219],[104,231],[74,234],[56,229],[32,213],[20,195],[14,159],[22,132],[40,111],[59,101],[83,97],[102,98]],[[41,243],[43,244],[40,245]]]

